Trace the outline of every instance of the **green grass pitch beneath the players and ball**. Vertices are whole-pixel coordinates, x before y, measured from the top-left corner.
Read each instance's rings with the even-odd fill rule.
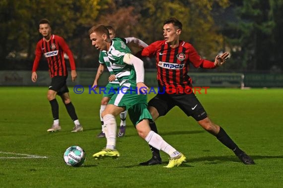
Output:
[[[157,120],[159,134],[187,156],[179,167],[139,166],[151,157],[149,147],[127,118],[126,137],[117,138],[118,159],[94,160],[105,147],[100,132],[100,94],[74,94],[84,131],[73,123],[61,99],[61,132],[53,123],[47,87],[0,87],[0,187],[3,188],[279,188],[283,187],[283,89],[208,89],[197,94],[212,121],[228,133],[256,165],[244,165],[234,153],[204,131],[193,118],[173,108]],[[148,95],[150,99],[153,94]],[[120,123],[120,120],[118,120]],[[64,151],[79,145],[83,166],[67,166]],[[36,156],[46,158],[35,158]]]

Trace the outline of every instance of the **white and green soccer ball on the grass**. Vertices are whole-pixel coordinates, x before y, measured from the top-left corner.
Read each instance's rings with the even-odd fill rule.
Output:
[[[71,146],[66,149],[64,153],[64,160],[69,166],[79,167],[85,161],[85,152],[79,146]]]

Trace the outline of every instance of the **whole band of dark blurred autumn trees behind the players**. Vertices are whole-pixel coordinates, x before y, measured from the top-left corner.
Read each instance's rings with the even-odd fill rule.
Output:
[[[91,26],[112,25],[117,37],[150,44],[163,39],[163,21],[176,17],[183,23],[181,40],[201,56],[231,53],[221,71],[282,72],[282,10],[283,0],[1,0],[0,69],[31,70],[42,18],[65,38],[77,67],[96,68]],[[154,61],[145,66],[153,68]]]

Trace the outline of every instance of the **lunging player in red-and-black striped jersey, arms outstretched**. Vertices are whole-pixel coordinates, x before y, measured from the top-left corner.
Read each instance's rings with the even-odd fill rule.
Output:
[[[214,135],[226,147],[233,150],[244,164],[254,164],[244,151],[242,151],[226,132],[214,124],[207,112],[191,91],[192,80],[188,76],[189,64],[195,67],[212,69],[221,66],[229,53],[217,55],[214,62],[203,59],[196,49],[189,43],[179,40],[182,32],[182,23],[176,18],[169,18],[163,23],[163,41],[156,41],[138,52],[137,56],[155,57],[157,68],[157,81],[161,94],[157,94],[148,102],[148,109],[156,120],[164,116],[174,106],[178,106],[192,116],[203,129]],[[157,133],[155,123],[150,124],[152,131]],[[152,158],[141,165],[161,164],[159,150],[150,147]]]

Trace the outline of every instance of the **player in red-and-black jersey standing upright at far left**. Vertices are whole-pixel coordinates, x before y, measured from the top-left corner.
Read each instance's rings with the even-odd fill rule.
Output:
[[[61,130],[61,126],[59,125],[59,105],[56,100],[56,94],[58,94],[59,96],[61,96],[67,108],[67,111],[72,121],[74,122],[75,126],[73,127],[71,132],[80,132],[83,129],[78,121],[74,106],[71,103],[69,89],[66,84],[68,70],[64,59],[64,52],[69,56],[71,65],[71,80],[74,81],[77,76],[72,52],[62,37],[51,35],[49,20],[40,20],[39,33],[41,33],[43,38],[36,45],[31,80],[32,82],[37,81],[36,69],[38,68],[41,56],[44,55],[48,62],[49,73],[51,77],[51,84],[49,86],[47,98],[51,104],[51,110],[54,120],[52,127],[47,131],[56,132]]]

